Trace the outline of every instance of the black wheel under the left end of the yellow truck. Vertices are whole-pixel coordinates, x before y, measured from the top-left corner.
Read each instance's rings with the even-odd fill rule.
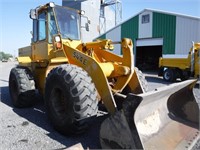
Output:
[[[166,69],[163,73],[163,79],[167,82],[174,82],[176,80],[176,72],[173,69]]]

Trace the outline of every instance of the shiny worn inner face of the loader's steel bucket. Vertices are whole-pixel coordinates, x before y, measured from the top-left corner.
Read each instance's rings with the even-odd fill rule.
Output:
[[[195,80],[141,94],[134,122],[145,149],[190,149],[199,139],[199,106]]]

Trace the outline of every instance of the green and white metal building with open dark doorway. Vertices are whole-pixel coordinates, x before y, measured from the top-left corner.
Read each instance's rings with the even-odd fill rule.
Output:
[[[131,38],[136,66],[158,67],[159,57],[187,57],[192,41],[200,42],[200,18],[144,9],[98,38],[120,41]],[[114,52],[121,54],[119,45]]]

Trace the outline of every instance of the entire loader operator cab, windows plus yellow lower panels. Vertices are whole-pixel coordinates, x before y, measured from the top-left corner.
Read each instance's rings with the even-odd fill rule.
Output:
[[[48,3],[31,9],[33,37],[31,41],[32,59],[46,61],[64,57],[62,43],[67,42],[76,48],[81,43],[80,12],[78,10]],[[47,50],[47,51],[45,51]]]

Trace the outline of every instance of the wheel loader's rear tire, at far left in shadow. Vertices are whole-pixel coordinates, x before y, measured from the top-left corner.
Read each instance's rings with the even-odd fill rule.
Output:
[[[35,102],[35,81],[28,68],[16,67],[10,71],[9,91],[13,105],[30,107]]]

